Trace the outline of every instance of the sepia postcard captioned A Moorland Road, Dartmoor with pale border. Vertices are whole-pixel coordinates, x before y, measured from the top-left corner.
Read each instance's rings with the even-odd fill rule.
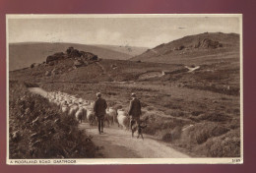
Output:
[[[242,15],[6,15],[7,164],[243,163]]]

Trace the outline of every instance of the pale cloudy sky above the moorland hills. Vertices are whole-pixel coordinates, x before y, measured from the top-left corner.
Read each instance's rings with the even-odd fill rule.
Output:
[[[203,32],[240,33],[236,16],[13,16],[8,40],[14,42],[71,42],[153,48],[186,35]]]

